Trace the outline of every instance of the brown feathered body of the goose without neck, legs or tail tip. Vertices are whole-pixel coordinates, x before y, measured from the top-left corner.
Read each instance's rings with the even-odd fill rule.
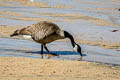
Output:
[[[32,24],[20,31],[22,35],[31,35],[33,40],[39,43],[50,43],[57,39],[64,38],[64,32],[56,24],[43,21]]]

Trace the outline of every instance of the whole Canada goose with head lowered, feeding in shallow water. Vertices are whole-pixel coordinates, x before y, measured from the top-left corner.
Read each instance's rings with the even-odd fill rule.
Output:
[[[41,44],[41,55],[43,57],[43,47],[50,53],[47,49],[46,44],[53,42],[58,39],[69,38],[73,49],[77,51],[81,57],[81,47],[75,43],[73,36],[67,31],[61,30],[56,24],[48,21],[42,21],[37,24],[32,24],[31,26],[27,26],[22,29],[16,30],[10,36],[18,36],[18,35],[29,35],[31,38]]]

